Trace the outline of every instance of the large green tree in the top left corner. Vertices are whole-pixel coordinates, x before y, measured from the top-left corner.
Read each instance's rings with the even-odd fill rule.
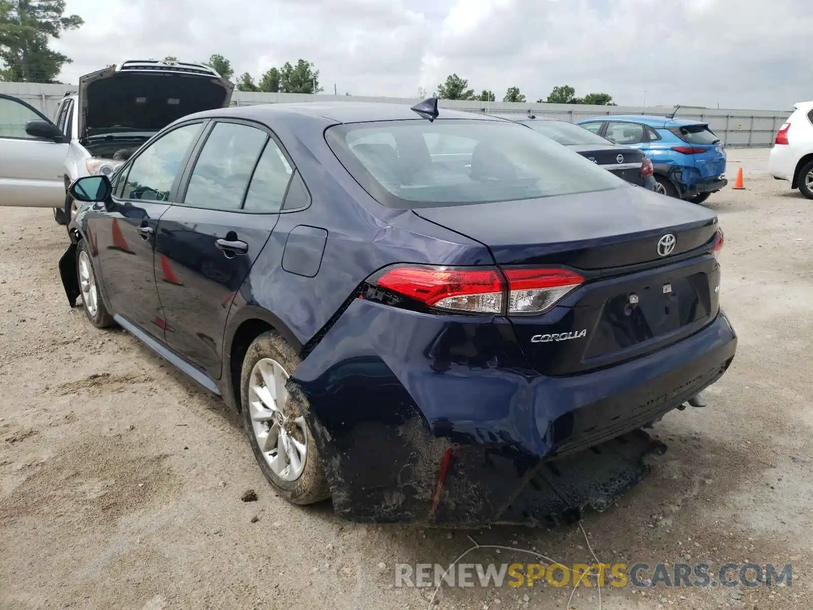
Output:
[[[64,16],[65,0],[0,0],[2,77],[27,82],[54,82],[71,59],[48,48],[51,38],[79,28],[79,15]]]

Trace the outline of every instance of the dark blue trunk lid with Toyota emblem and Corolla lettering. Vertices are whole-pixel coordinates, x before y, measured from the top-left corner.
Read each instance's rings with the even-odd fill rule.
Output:
[[[502,268],[567,267],[585,278],[549,311],[509,316],[538,373],[636,358],[696,332],[718,310],[717,219],[706,208],[622,187],[415,214],[483,242]],[[663,255],[667,235],[673,249]]]

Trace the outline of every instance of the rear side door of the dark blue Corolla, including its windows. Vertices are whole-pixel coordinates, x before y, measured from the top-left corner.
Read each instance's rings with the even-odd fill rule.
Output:
[[[215,379],[232,299],[279,218],[293,163],[267,129],[211,124],[185,172],[185,193],[161,217],[155,277],[166,341]]]

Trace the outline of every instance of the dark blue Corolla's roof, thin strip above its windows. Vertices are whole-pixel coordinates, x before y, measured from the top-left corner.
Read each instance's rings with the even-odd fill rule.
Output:
[[[377,120],[420,119],[406,104],[386,102],[291,102],[268,103],[256,106],[220,108],[199,112],[194,117],[230,116],[264,122],[279,120],[285,116],[311,117],[314,120],[327,120],[332,123],[366,123]],[[185,119],[189,119],[187,116]],[[446,110],[440,108],[438,119],[502,120],[495,116],[477,115],[473,112]]]

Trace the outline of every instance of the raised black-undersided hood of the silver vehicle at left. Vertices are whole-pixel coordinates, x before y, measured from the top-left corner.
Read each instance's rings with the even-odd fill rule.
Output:
[[[157,132],[183,116],[228,107],[233,90],[211,74],[111,66],[79,80],[79,135]]]

